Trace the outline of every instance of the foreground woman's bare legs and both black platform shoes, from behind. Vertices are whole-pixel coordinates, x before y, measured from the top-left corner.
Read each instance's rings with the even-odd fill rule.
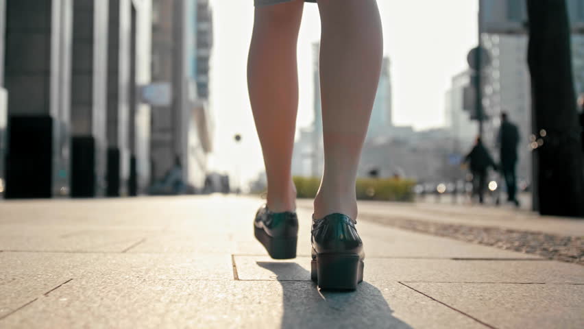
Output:
[[[363,281],[356,173],[382,61],[376,0],[317,2],[324,173],[314,200],[311,277],[321,289],[354,290]],[[255,0],[247,84],[267,173],[267,203],[256,239],[272,258],[294,258],[298,222],[291,161],[298,107],[296,44],[304,0]]]

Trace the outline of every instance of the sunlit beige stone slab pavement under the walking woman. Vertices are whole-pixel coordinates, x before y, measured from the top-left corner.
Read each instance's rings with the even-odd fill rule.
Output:
[[[584,328],[581,265],[367,221],[416,205],[363,204],[365,281],[318,291],[306,201],[286,261],[254,241],[262,202],[0,202],[0,328]]]

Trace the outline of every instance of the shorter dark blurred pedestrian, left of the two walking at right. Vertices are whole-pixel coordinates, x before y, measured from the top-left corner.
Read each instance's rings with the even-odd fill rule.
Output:
[[[482,204],[485,201],[484,194],[485,187],[487,186],[489,167],[497,169],[497,164],[494,162],[485,145],[483,145],[480,137],[476,138],[476,143],[470,153],[465,157],[465,162],[469,163],[472,173],[472,194],[478,195],[478,202]]]

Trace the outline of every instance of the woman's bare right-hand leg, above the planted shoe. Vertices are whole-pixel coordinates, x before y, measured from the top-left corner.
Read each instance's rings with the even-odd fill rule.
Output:
[[[318,0],[324,173],[315,218],[357,217],[356,173],[377,91],[382,31],[376,0]]]

